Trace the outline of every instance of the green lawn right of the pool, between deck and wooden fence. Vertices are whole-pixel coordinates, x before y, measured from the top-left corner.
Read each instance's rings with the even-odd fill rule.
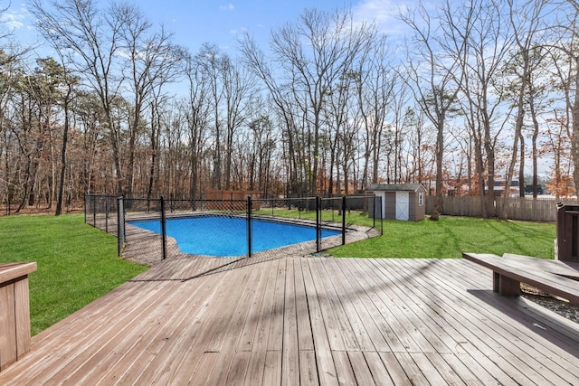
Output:
[[[384,234],[329,249],[337,257],[460,258],[462,252],[553,259],[555,224],[444,217],[439,221],[385,221]]]

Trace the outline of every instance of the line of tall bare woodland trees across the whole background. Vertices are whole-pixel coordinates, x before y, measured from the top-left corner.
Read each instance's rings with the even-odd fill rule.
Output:
[[[375,183],[491,205],[498,182],[525,194],[529,166],[536,197],[546,161],[552,192],[576,192],[575,1],[419,2],[398,15],[403,39],[348,9],[311,8],[267,49],[243,33],[233,54],[177,45],[138,5],[27,5],[54,54],[0,34],[0,200],[17,210],[60,214],[84,193]]]

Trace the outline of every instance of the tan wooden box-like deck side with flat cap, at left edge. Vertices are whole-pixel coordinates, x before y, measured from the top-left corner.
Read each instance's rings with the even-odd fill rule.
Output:
[[[30,351],[28,274],[36,263],[0,263],[0,372]]]

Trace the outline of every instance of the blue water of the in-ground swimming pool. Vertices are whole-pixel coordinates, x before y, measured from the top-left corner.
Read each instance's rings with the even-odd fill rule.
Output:
[[[129,221],[131,225],[161,233],[158,220]],[[182,252],[220,257],[247,254],[247,219],[226,216],[195,216],[166,220],[166,234]],[[322,238],[340,234],[322,229]],[[252,252],[316,240],[316,228],[280,221],[252,219]]]

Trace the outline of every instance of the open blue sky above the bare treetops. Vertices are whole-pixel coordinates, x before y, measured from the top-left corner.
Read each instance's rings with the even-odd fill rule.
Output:
[[[100,0],[108,4],[108,0]],[[350,7],[356,20],[375,21],[384,33],[396,33],[402,26],[395,19],[403,2],[395,0],[125,0],[137,4],[154,24],[164,24],[175,33],[175,42],[197,52],[204,42],[217,44],[234,54],[237,36],[244,29],[259,42],[267,44],[272,29],[287,22],[297,22],[306,8],[333,11]],[[412,1],[412,0],[411,0]],[[0,0],[5,8],[9,2]],[[39,41],[33,17],[24,2],[13,0],[0,22],[14,28],[23,42]],[[263,47],[265,48],[265,47]]]

